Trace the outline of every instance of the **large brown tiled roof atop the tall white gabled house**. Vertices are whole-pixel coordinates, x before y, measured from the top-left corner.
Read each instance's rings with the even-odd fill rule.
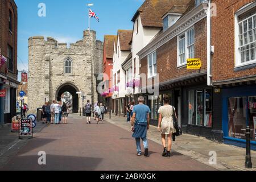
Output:
[[[142,25],[146,27],[163,27],[162,16],[166,14],[172,6],[188,6],[194,0],[146,0],[137,10],[132,21],[141,15]]]

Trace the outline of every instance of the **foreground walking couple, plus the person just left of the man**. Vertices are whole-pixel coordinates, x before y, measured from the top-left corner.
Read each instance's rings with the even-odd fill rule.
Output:
[[[161,106],[158,110],[159,121],[158,121],[158,131],[162,136],[163,144],[163,154],[162,156],[170,158],[170,151],[172,147],[172,135],[177,133],[177,130],[174,127],[174,119],[177,119],[175,112],[175,107],[169,104],[169,98],[163,98],[164,105]],[[137,146],[137,155],[142,155],[141,150],[141,139],[144,146],[144,156],[148,156],[148,140],[147,140],[147,130],[150,128],[150,108],[147,105],[144,105],[144,97],[139,97],[139,104],[134,105],[134,102],[131,102],[127,105],[127,122],[130,122],[129,116],[131,117],[131,131],[133,132],[133,138],[135,138]],[[133,106],[132,110],[130,109]],[[168,140],[168,145],[166,146],[166,135]]]

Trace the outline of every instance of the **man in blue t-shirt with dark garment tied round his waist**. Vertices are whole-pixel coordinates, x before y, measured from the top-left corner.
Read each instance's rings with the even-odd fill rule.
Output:
[[[141,156],[141,139],[144,145],[144,156],[148,156],[147,130],[150,124],[150,108],[144,105],[144,97],[140,96],[139,104],[133,107],[133,117],[131,118],[131,131],[136,140],[137,155]]]

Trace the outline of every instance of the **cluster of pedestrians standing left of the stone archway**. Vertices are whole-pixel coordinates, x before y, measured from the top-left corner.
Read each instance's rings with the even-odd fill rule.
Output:
[[[65,102],[52,101],[46,102],[42,107],[43,124],[49,124],[54,122],[55,125],[59,125],[61,121],[64,124],[68,123],[69,109]]]

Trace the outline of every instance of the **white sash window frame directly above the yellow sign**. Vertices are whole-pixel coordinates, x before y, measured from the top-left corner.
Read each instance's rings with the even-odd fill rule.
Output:
[[[192,31],[193,30],[193,43],[192,44],[189,44],[188,45],[188,32]],[[180,39],[181,36],[184,36],[183,39],[185,39],[185,42],[184,42],[184,48],[185,48],[185,52],[183,53],[180,53],[180,40],[183,40],[183,39]],[[193,46],[193,57],[190,57],[189,56],[189,47],[192,47]],[[180,56],[185,54],[185,61],[184,63],[181,63],[181,59],[180,59]],[[177,68],[179,67],[183,67],[184,65],[187,65],[187,59],[189,58],[195,58],[195,27],[192,26],[191,28],[189,28],[188,30],[182,32],[180,35],[177,36]]]

